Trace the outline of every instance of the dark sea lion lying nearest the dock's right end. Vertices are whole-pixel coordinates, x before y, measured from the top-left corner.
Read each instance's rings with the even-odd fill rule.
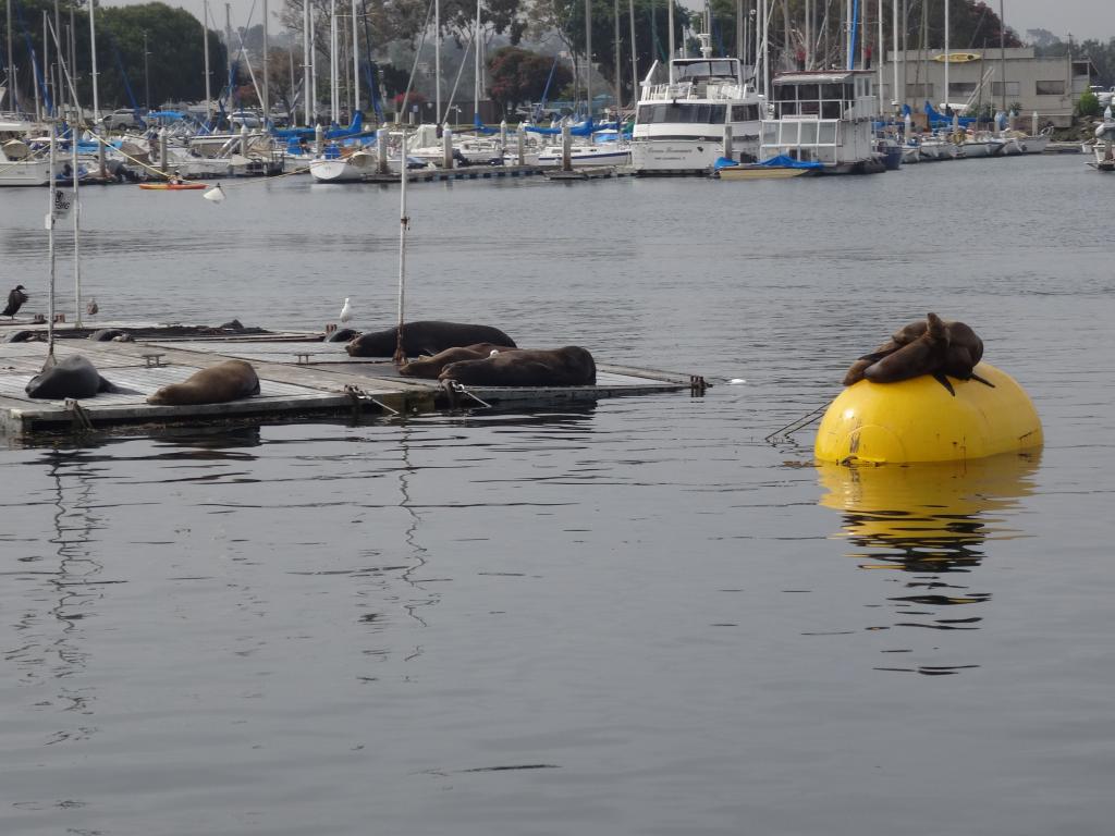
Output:
[[[597,363],[580,346],[513,349],[449,363],[438,380],[471,386],[591,386],[597,382]]]

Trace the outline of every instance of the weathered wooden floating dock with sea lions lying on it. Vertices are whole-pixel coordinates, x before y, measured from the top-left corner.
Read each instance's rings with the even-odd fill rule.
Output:
[[[25,392],[28,381],[42,369],[46,342],[0,343],[0,434],[21,437],[93,428],[392,416],[458,408],[532,409],[705,389],[698,377],[603,363],[598,363],[595,386],[447,388],[437,380],[401,377],[386,359],[350,358],[343,342],[323,342],[321,334],[206,336],[194,333],[197,329],[166,327],[165,336],[159,336],[155,327],[116,327],[152,336],[135,342],[93,342],[77,339],[80,332],[75,331],[75,338],[55,341],[58,359],[81,354],[101,377],[134,390],[103,392],[79,401],[33,399]],[[184,331],[191,336],[182,337]],[[260,395],[198,406],[146,402],[161,387],[182,382],[195,371],[229,359],[252,363],[260,378]]]

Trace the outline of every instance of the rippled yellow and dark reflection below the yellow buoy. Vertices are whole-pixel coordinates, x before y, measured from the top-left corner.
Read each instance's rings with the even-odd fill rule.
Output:
[[[863,570],[906,573],[902,594],[886,599],[895,628],[976,630],[980,604],[991,593],[968,575],[986,557],[989,541],[1021,536],[1010,512],[1034,492],[1040,454],[996,456],[966,463],[844,467],[818,464],[820,503],[843,513],[841,535]],[[889,629],[875,625],[873,629]],[[909,652],[892,649],[889,652]],[[954,673],[960,667],[888,668]]]

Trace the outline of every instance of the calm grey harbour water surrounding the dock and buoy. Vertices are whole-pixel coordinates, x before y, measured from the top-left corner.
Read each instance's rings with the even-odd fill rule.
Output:
[[[1109,188],[1079,157],[416,186],[411,315],[718,385],[10,445],[0,832],[1109,832]],[[227,192],[83,193],[101,319],[390,322],[397,191]],[[29,310],[45,198],[0,196]],[[927,310],[1040,455],[852,478],[764,441]]]

